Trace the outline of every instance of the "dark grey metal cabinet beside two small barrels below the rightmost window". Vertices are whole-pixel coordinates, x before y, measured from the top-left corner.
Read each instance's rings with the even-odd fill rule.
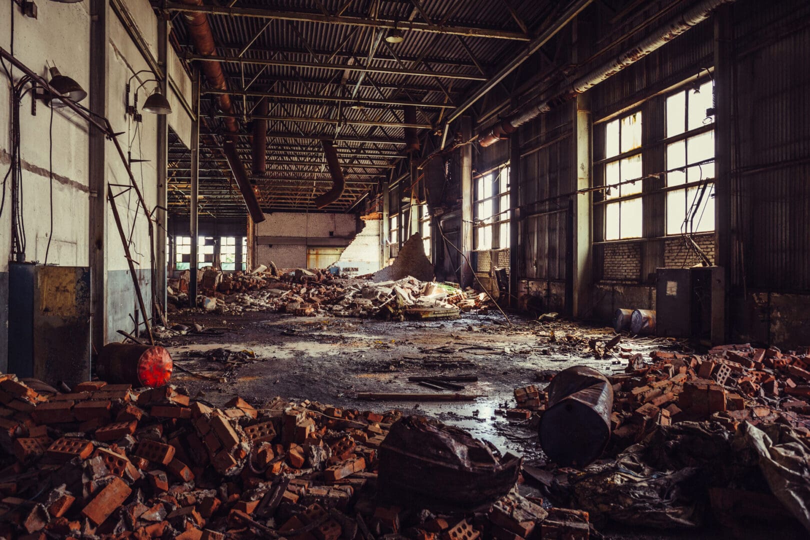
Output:
[[[656,276],[655,325],[659,336],[692,338],[706,345],[725,342],[722,268],[659,268]]]

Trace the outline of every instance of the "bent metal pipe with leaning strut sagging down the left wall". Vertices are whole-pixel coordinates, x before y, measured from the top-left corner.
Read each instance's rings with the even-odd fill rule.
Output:
[[[6,51],[6,49],[3,49],[2,47],[0,47],[0,57],[2,57],[4,60],[7,60],[8,62],[10,62],[13,66],[15,66],[17,69],[22,71],[24,74],[27,74],[28,77],[30,77],[33,81],[36,81],[37,85],[39,85],[40,87],[45,88],[45,90],[48,91],[50,94],[59,95],[59,92],[56,91],[56,89],[54,89],[48,83],[48,81],[46,81],[45,79],[40,77],[38,74],[34,73],[31,69],[28,68],[28,66],[23,64],[23,62],[20,62],[17,57],[13,56],[11,53]],[[149,217],[151,215],[151,212],[147,208],[146,202],[143,200],[143,193],[141,193],[141,190],[138,187],[138,184],[135,182],[135,177],[132,174],[132,169],[130,169],[130,164],[127,162],[126,156],[124,155],[124,151],[123,151],[121,145],[118,143],[118,139],[117,139],[118,134],[116,134],[113,131],[113,126],[110,125],[109,120],[106,117],[100,117],[100,116],[96,115],[96,117],[98,117],[98,119],[96,119],[96,118],[92,117],[92,113],[90,113],[90,111],[87,110],[87,108],[84,108],[83,106],[81,106],[79,104],[76,104],[76,103],[74,103],[73,101],[70,101],[70,100],[63,100],[63,103],[66,104],[71,110],[73,110],[73,112],[75,112],[80,117],[82,117],[84,120],[86,120],[90,125],[95,126],[98,130],[100,130],[102,133],[104,133],[104,135],[106,135],[107,138],[112,140],[113,143],[115,144],[115,147],[116,147],[116,149],[118,151],[118,156],[121,158],[122,164],[124,164],[124,168],[126,168],[126,173],[130,177],[130,185],[132,185],[132,188],[135,190],[135,193],[138,194],[139,203],[143,207],[144,215],[147,216],[147,223],[148,223],[148,227],[149,227],[149,240],[150,240],[149,244],[150,244],[150,247],[151,247],[150,256],[151,256],[152,281],[154,282],[155,274],[156,274],[156,268],[155,268],[155,245],[154,245],[154,240],[153,240],[154,232],[152,230],[151,218]],[[112,198],[112,193],[108,192],[107,196],[109,198],[110,203],[113,205],[113,214],[117,216],[117,211],[118,210],[115,207],[115,202],[114,202],[114,200]],[[119,232],[121,232],[121,231],[122,231],[122,229],[119,228]],[[126,236],[122,236],[122,243],[123,243],[125,253],[129,253],[129,246],[127,245],[127,242],[126,242]],[[141,306],[141,311],[144,313],[144,321],[146,322],[146,325],[147,325],[147,332],[149,334],[150,341],[154,344],[154,339],[152,338],[152,335],[151,335],[151,326],[149,325],[148,319],[146,318],[146,315],[145,315],[147,312],[146,312],[146,309],[143,307],[143,297],[141,296],[141,289],[140,289],[140,285],[138,283],[138,276],[136,276],[134,274],[134,266],[132,266],[132,261],[131,261],[131,258],[129,256],[127,256],[127,260],[128,260],[128,262],[130,262],[130,273],[132,274],[132,283],[133,283],[133,286],[134,286],[134,289],[135,289],[135,293],[139,297],[139,304]],[[152,298],[154,300],[154,295],[152,296]],[[161,319],[164,319],[163,310],[162,310],[160,305],[157,305],[156,301],[153,301],[153,307],[156,308],[156,311],[160,314]]]

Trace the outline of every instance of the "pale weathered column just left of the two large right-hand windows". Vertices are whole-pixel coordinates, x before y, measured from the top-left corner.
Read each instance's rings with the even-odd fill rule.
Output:
[[[593,164],[593,114],[590,112],[590,100],[587,94],[577,96],[573,113],[575,118],[574,145],[576,145],[577,189],[590,188]],[[571,220],[573,245],[571,248],[571,290],[570,311],[574,317],[581,317],[589,308],[590,285],[593,263],[591,261],[591,243],[593,241],[593,198],[590,193],[575,195]],[[569,291],[566,291],[566,296]],[[566,299],[568,300],[568,299]],[[568,306],[566,306],[568,307]]]

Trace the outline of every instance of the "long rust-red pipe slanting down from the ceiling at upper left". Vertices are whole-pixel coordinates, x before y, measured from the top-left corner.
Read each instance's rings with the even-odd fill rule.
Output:
[[[181,0],[182,3],[188,6],[202,6],[203,0]],[[201,12],[185,12],[186,26],[189,28],[189,35],[194,42],[194,48],[197,49],[198,54],[202,56],[211,56],[216,54],[216,46],[214,44],[214,35],[211,33],[211,25],[208,23],[208,17],[205,13]],[[228,83],[225,81],[225,74],[222,72],[220,62],[211,62],[200,60],[202,64],[203,74],[205,74],[208,86],[216,90],[227,91]],[[227,93],[219,94],[217,101],[220,104],[220,110],[224,113],[233,114],[233,104],[231,96]],[[254,223],[264,221],[264,212],[259,206],[256,193],[254,193],[253,185],[250,184],[247,173],[245,172],[245,165],[242,164],[241,159],[236,151],[236,143],[239,142],[239,125],[235,117],[223,118],[225,127],[228,130],[228,141],[223,145],[225,157],[228,159],[228,165],[231,167],[233,177],[237,181],[239,191],[242,198],[245,199],[245,206],[250,213],[250,218]],[[265,125],[266,133],[266,125]]]

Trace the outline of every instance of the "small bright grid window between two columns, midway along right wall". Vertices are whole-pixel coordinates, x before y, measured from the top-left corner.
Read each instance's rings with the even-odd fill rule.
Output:
[[[501,167],[494,172],[489,172],[475,181],[473,209],[475,210],[475,249],[509,247],[508,167]],[[494,245],[494,238],[497,238],[497,245]]]

